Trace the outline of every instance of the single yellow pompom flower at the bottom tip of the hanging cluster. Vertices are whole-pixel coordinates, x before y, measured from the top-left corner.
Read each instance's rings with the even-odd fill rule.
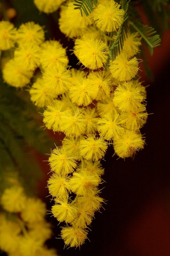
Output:
[[[61,231],[65,244],[70,245],[70,247],[82,245],[87,238],[87,234],[87,230],[75,227],[63,227]]]

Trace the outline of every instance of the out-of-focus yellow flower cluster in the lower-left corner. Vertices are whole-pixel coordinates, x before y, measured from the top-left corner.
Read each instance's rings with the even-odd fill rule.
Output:
[[[50,223],[45,220],[46,206],[37,197],[28,197],[20,185],[6,188],[0,204],[0,249],[9,256],[57,256],[45,245],[51,238]]]

